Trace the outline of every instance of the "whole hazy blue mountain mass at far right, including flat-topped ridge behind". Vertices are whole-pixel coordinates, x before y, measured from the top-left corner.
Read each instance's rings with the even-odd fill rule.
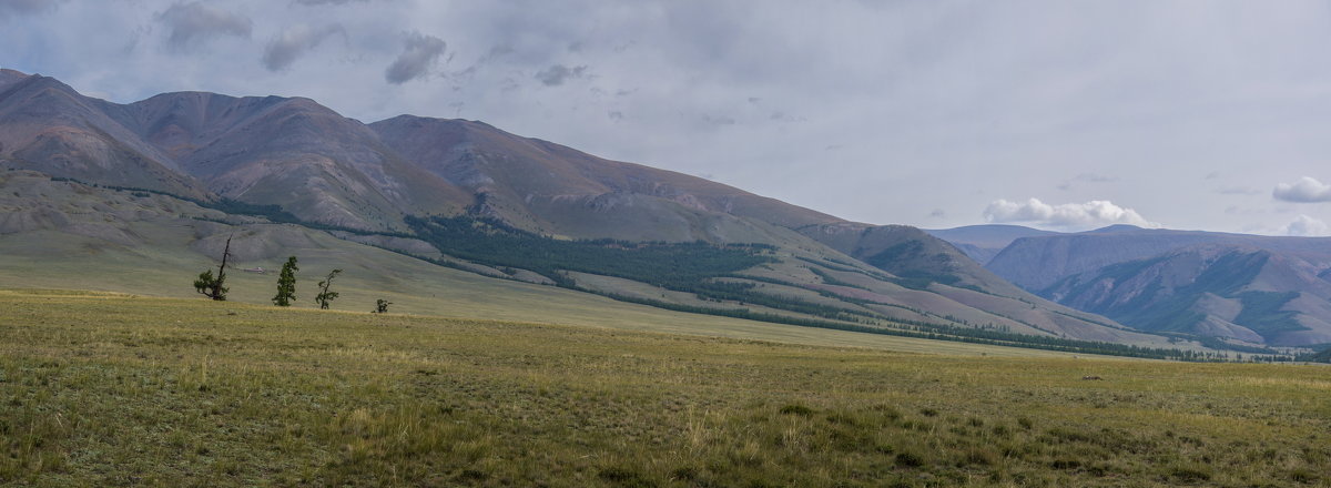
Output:
[[[1110,226],[1021,237],[986,267],[1143,331],[1331,343],[1331,238]]]

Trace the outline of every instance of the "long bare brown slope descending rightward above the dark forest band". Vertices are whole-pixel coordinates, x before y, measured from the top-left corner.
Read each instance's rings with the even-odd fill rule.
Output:
[[[419,168],[483,194],[478,211],[554,234],[664,241],[748,235],[749,217],[781,227],[837,218],[697,177],[603,160],[461,120],[399,116],[370,125]]]

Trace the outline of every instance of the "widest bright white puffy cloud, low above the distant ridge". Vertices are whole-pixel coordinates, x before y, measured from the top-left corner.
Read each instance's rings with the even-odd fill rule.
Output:
[[[1106,199],[1061,205],[1049,205],[1037,198],[1025,202],[996,199],[985,207],[984,217],[990,223],[1020,222],[1067,230],[1095,229],[1114,223],[1159,227],[1159,223],[1142,218],[1137,210],[1121,207]]]

